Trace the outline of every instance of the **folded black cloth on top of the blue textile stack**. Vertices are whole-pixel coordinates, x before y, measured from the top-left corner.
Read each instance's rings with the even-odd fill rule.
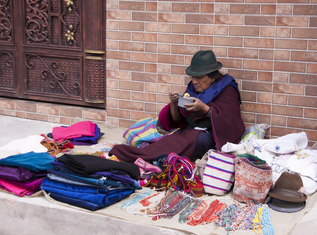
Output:
[[[117,162],[94,155],[71,155],[65,153],[63,156],[56,158],[56,161],[64,163],[69,169],[81,174],[118,170],[128,173],[133,179],[137,179],[140,176],[139,166],[134,163]]]

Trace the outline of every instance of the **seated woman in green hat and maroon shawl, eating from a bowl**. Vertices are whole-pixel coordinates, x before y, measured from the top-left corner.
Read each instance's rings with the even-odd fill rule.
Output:
[[[151,161],[161,154],[175,152],[180,156],[201,158],[209,149],[221,151],[227,142],[238,144],[245,131],[241,118],[241,98],[235,79],[218,70],[222,64],[212,50],[200,50],[191,60],[186,74],[191,76],[185,92],[194,103],[178,106],[178,93],[171,92],[171,102],[159,113],[158,130],[182,131],[167,135],[140,149],[115,145],[109,152],[127,162],[137,158]],[[184,92],[184,93],[185,93]]]

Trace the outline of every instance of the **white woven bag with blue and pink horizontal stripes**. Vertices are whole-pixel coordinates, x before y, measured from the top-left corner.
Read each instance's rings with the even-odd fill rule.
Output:
[[[236,156],[212,150],[204,171],[204,191],[224,195],[235,180]]]

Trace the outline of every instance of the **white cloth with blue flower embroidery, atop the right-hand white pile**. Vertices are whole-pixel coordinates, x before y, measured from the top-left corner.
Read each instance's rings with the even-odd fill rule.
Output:
[[[270,164],[277,154],[291,153],[306,148],[308,139],[306,133],[301,132],[277,139],[254,139],[252,143],[254,155]]]

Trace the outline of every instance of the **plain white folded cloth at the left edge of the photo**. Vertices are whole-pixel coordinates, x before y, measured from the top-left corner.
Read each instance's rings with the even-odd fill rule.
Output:
[[[40,135],[32,135],[23,139],[16,139],[11,141],[9,144],[6,144],[0,147],[1,150],[10,150],[10,151],[18,151],[18,153],[27,153],[27,152],[47,152],[47,148],[45,148],[41,141],[44,137]]]

